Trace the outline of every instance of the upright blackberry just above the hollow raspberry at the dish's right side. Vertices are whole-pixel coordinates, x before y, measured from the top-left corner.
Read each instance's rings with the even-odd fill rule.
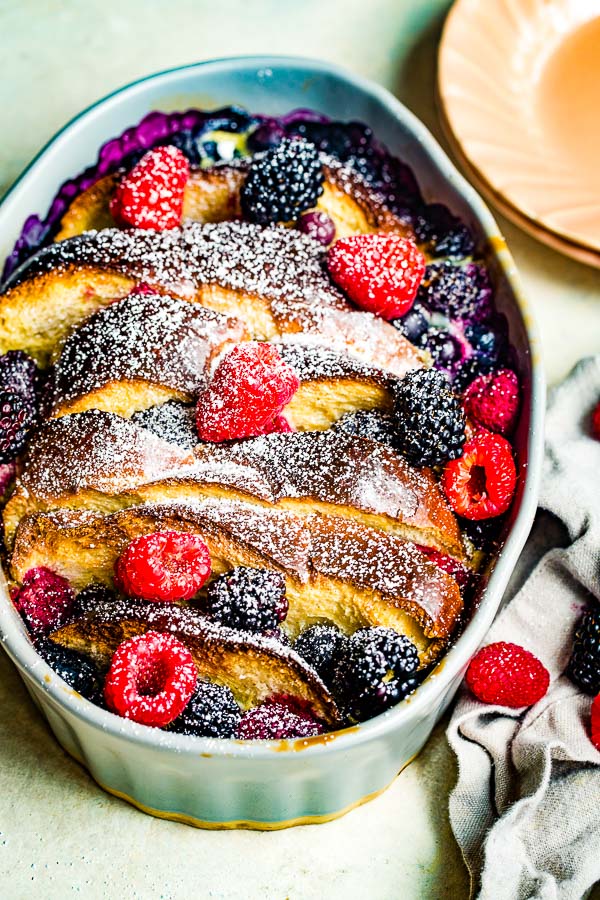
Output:
[[[394,412],[397,446],[410,463],[437,466],[460,456],[465,414],[442,372],[405,375],[394,385]]]

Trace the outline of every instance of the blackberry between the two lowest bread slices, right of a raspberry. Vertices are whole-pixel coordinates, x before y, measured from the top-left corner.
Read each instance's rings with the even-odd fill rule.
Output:
[[[287,615],[285,579],[278,572],[238,566],[208,586],[206,603],[207,612],[229,628],[272,631]]]

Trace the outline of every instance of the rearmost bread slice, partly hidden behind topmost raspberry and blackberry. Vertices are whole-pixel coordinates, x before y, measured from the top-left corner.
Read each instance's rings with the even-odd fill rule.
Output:
[[[338,238],[373,231],[411,234],[403,221],[385,204],[383,197],[353,169],[339,160],[322,156],[323,194],[317,208],[333,220]],[[247,162],[218,164],[193,169],[185,188],[183,218],[192,222],[224,222],[241,216],[240,190],[246,179]],[[61,221],[56,241],[84,231],[114,227],[109,205],[119,182],[116,174],[105,175],[73,200]]]

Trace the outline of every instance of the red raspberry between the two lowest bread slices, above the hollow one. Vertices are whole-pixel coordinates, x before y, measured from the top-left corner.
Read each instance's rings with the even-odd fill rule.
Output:
[[[210,554],[202,538],[177,531],[135,538],[115,564],[119,589],[144,600],[189,600],[209,575]]]

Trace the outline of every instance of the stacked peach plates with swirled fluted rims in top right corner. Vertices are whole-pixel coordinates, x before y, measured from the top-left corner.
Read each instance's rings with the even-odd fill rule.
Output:
[[[457,0],[438,96],[477,186],[600,268],[600,0]]]

